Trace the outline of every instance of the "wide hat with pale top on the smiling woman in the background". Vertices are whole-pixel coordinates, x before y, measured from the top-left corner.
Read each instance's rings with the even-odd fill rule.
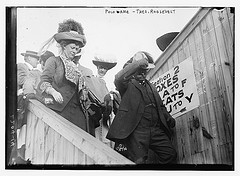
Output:
[[[107,70],[112,69],[117,65],[117,61],[113,56],[110,55],[97,55],[94,56],[94,60],[92,60],[93,64],[98,66],[102,66]]]

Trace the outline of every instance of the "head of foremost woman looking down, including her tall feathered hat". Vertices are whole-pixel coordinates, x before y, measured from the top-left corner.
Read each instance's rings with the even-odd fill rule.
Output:
[[[81,52],[81,48],[86,44],[82,25],[72,19],[59,24],[58,33],[54,35],[54,39],[59,43],[61,53],[69,59],[73,59]]]

